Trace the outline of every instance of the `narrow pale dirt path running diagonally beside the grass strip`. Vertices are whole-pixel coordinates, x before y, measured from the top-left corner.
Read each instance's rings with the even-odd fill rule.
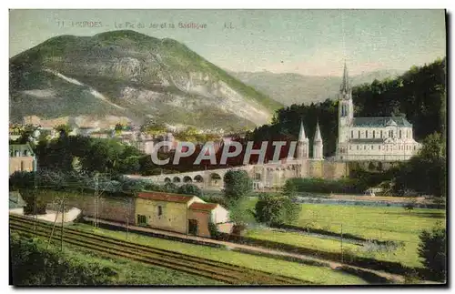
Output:
[[[91,222],[95,221],[94,218],[85,218],[85,219],[87,221],[91,221]],[[126,226],[124,224],[113,222],[113,221],[98,220],[98,222],[104,223],[104,224],[110,225],[110,226],[126,228]],[[341,263],[341,262],[337,262],[337,261],[333,261],[333,260],[329,260],[329,259],[317,259],[317,258],[313,258],[311,256],[303,255],[303,254],[290,253],[290,252],[280,251],[280,250],[276,250],[276,249],[238,244],[238,243],[233,243],[233,242],[216,240],[216,239],[212,239],[212,238],[191,236],[191,235],[180,234],[180,233],[175,233],[175,232],[163,231],[163,230],[154,229],[154,228],[143,228],[143,227],[136,227],[136,226],[129,226],[128,228],[134,229],[137,231],[150,232],[150,233],[166,235],[166,236],[175,237],[175,238],[191,239],[191,240],[196,240],[196,241],[201,241],[201,242],[206,242],[206,243],[211,243],[211,244],[223,245],[223,246],[226,246],[227,248],[240,248],[240,249],[244,249],[244,250],[248,250],[248,251],[259,252],[259,253],[262,253],[265,255],[270,255],[270,256],[279,255],[279,256],[284,256],[284,257],[293,258],[293,259],[301,259],[303,261],[305,261],[305,260],[316,261],[316,262],[326,264],[330,269],[338,269],[341,267],[347,267],[350,269],[361,269],[361,270],[369,271],[370,273],[376,274],[379,277],[389,279],[395,283],[404,283],[404,280],[405,280],[404,277],[401,275],[391,274],[388,272],[379,271],[379,270],[375,270],[375,269],[359,268],[359,267],[351,266],[351,265],[348,265],[345,263]]]

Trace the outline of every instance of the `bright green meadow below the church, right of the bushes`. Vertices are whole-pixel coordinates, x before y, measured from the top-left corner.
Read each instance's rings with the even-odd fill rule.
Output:
[[[254,207],[255,202],[255,200],[250,200],[248,206]],[[393,250],[365,248],[345,243],[343,251],[349,250],[360,257],[398,261],[408,267],[422,267],[417,253],[420,231],[432,228],[438,222],[445,224],[445,210],[443,209],[415,208],[409,212],[397,207],[302,204],[300,217],[292,225],[302,228],[320,228],[338,234],[342,229],[343,234],[362,238],[404,242],[403,247]],[[249,230],[247,236],[302,248],[341,252],[339,240],[330,238],[266,229]]]

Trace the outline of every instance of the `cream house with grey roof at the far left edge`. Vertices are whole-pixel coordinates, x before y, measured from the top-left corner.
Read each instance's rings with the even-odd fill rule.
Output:
[[[36,158],[32,147],[26,144],[11,144],[9,146],[9,174],[16,171],[35,171]]]

